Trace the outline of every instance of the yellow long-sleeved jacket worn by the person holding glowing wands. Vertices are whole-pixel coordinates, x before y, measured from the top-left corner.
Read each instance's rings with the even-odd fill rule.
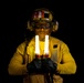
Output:
[[[40,43],[41,46],[43,43]],[[24,55],[25,42],[22,42],[18,48],[12,59],[10,60],[8,72],[10,75],[24,75],[23,83],[44,83],[44,75],[35,74],[28,75],[27,74],[27,63],[31,62],[34,59],[34,49],[35,42],[34,38],[29,42]],[[57,63],[57,73],[60,74],[75,74],[76,72],[76,63],[74,58],[72,56],[69,46],[61,40],[50,37],[49,38],[49,56]],[[41,53],[43,53],[41,51]],[[29,56],[28,56],[29,55]],[[25,59],[25,64],[23,63],[23,58]],[[60,75],[53,76],[54,83],[63,83],[63,79]]]

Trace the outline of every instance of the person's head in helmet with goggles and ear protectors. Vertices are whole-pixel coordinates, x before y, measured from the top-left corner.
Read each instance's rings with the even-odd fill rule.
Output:
[[[34,31],[40,37],[40,40],[44,40],[46,34],[50,35],[57,28],[59,23],[53,20],[53,13],[44,8],[34,10],[31,20],[28,21],[28,29]]]

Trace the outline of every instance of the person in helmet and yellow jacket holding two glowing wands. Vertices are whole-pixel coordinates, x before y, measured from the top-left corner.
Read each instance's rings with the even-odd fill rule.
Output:
[[[63,83],[60,74],[76,73],[67,44],[51,35],[59,29],[52,11],[35,9],[27,29],[35,35],[17,48],[8,66],[10,75],[23,75],[23,83]]]

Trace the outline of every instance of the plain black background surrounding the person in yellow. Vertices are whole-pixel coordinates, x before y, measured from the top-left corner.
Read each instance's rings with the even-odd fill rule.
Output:
[[[1,7],[1,39],[0,39],[0,83],[17,83],[21,76],[10,76],[8,74],[8,64],[17,46],[24,41],[27,22],[32,11],[36,8],[48,8],[54,12],[54,19],[59,21],[59,30],[52,33],[63,40],[70,48],[70,51],[77,64],[77,71],[74,75],[63,75],[64,83],[83,83],[84,54],[83,54],[83,4],[78,1],[56,1],[56,0],[30,0],[8,1]],[[29,37],[33,34],[29,32]]]

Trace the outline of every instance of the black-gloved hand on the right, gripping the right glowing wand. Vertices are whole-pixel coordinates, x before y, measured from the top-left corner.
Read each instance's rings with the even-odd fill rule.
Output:
[[[57,64],[54,63],[50,58],[42,59],[42,72],[55,73]]]

